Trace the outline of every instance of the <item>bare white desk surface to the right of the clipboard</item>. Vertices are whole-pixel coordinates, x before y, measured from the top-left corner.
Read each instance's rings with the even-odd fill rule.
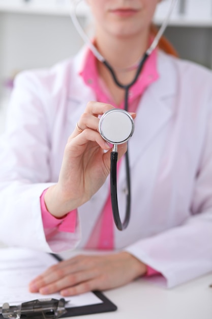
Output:
[[[116,311],[83,315],[82,319],[211,319],[209,284],[212,284],[212,273],[173,289],[139,279],[104,292],[118,307]]]

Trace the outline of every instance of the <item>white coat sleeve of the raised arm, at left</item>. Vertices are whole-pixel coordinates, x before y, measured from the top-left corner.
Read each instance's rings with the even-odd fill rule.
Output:
[[[53,183],[44,94],[34,72],[18,75],[0,141],[0,242],[57,253],[76,247],[80,227],[77,217],[74,233],[55,229],[46,240],[40,196]]]

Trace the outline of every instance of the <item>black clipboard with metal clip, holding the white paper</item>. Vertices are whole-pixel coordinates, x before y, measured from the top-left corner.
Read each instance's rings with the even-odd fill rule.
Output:
[[[56,254],[48,254],[57,261],[63,260]],[[110,312],[117,310],[117,306],[113,304],[103,293],[100,291],[92,291],[95,297],[101,302],[85,304],[85,305],[74,305],[73,307],[66,307],[68,301],[64,298],[43,296],[41,299],[30,300],[27,302],[17,302],[10,305],[5,299],[4,304],[0,307],[0,319],[18,319],[22,317],[33,318],[33,319],[55,319],[57,317],[73,317],[93,313]],[[33,296],[32,296],[33,298]],[[36,297],[40,298],[40,297]],[[3,298],[4,300],[4,298]],[[14,299],[16,300],[16,299]],[[23,299],[22,299],[23,300]],[[0,300],[1,302],[1,300]],[[12,301],[11,301],[12,302]]]

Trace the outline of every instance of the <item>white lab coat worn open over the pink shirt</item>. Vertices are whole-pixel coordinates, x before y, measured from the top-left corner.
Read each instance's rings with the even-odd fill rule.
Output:
[[[40,195],[58,179],[66,141],[95,100],[78,75],[84,50],[46,70],[19,75],[0,149],[0,241],[59,252],[84,247],[108,196],[109,181],[78,208],[75,233],[46,242]],[[143,94],[129,142],[131,220],[114,227],[125,249],[161,272],[167,285],[212,270],[212,75],[160,52],[160,78]],[[125,166],[118,204],[125,214]]]

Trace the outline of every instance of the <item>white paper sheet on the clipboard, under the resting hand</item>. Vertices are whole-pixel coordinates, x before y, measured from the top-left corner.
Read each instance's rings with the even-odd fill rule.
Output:
[[[28,291],[28,283],[55,263],[57,260],[50,254],[20,248],[0,249],[0,307],[5,302],[12,306],[35,299],[62,298],[59,294],[44,296]],[[66,300],[69,301],[66,307],[102,303],[93,293],[73,296]]]

